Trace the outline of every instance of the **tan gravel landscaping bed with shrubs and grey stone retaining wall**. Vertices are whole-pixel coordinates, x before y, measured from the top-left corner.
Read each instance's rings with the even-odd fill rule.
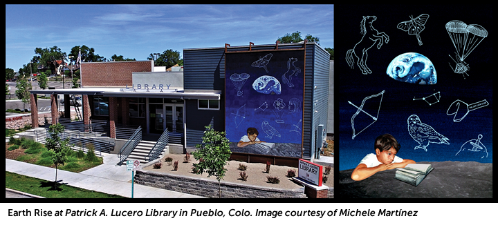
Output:
[[[165,162],[170,157],[171,162]],[[178,169],[174,170],[174,162],[178,161]],[[154,168],[154,162],[146,164],[136,173],[136,182],[147,186],[176,190],[183,193],[191,193],[205,197],[218,197],[218,182],[216,177],[208,177],[206,173],[200,175],[192,172],[192,164],[197,163],[194,157],[189,162],[185,161],[185,155],[169,154],[158,160],[162,166]],[[239,165],[246,166],[241,170]],[[297,168],[290,166],[270,165],[269,173],[266,173],[266,164],[246,163],[229,161],[225,166],[227,172],[221,180],[221,197],[305,197],[304,187],[293,182],[287,177],[289,170]],[[245,172],[248,175],[244,181],[240,175]],[[333,187],[333,172],[324,185]],[[267,177],[277,177],[278,184],[268,181]]]

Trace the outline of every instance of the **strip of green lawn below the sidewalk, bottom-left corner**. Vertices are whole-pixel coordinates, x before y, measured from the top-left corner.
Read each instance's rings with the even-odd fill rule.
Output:
[[[57,190],[55,190],[53,182],[7,171],[6,188],[46,198],[124,198],[120,195],[109,195],[65,184],[59,184]]]

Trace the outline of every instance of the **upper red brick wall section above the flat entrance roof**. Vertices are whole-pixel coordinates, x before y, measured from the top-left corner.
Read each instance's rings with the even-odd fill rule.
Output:
[[[82,63],[82,84],[84,88],[131,86],[132,72],[151,72],[153,67],[153,61]]]

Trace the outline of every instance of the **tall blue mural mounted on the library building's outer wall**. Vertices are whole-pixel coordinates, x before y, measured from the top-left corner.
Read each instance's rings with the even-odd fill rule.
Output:
[[[225,130],[234,153],[301,157],[304,50],[227,52]]]

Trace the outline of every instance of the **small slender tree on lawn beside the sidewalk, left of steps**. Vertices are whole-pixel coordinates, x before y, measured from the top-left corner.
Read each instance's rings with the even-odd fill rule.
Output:
[[[71,151],[71,146],[68,145],[69,139],[61,139],[61,134],[64,132],[64,126],[61,124],[53,124],[48,127],[50,137],[47,137],[45,147],[53,151],[52,162],[55,166],[55,182],[54,188],[57,190],[57,168],[64,166],[67,160],[67,153]]]

